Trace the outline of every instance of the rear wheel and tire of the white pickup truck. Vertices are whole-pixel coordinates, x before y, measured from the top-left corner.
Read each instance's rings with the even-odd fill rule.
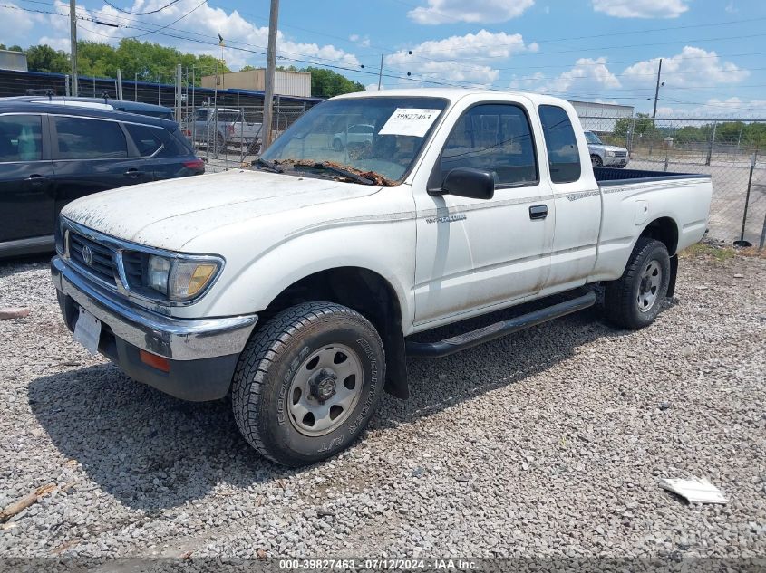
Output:
[[[625,329],[643,329],[654,322],[670,283],[670,256],[659,241],[640,237],[616,281],[604,292],[606,316]]]

